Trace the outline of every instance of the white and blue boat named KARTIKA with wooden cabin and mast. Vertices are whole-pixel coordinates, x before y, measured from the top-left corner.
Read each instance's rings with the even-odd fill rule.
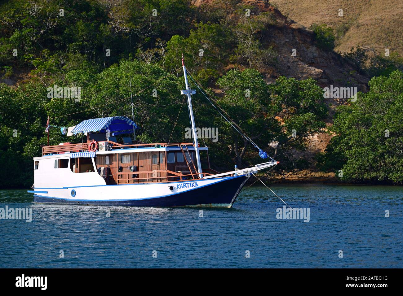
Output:
[[[42,147],[33,158],[34,203],[134,207],[231,208],[247,180],[278,164],[270,161],[220,173],[210,167],[208,147],[197,141],[187,70],[182,60],[193,143],[141,143],[127,135],[139,129],[124,116],[93,118],[67,135],[87,135],[82,143]],[[48,139],[49,139],[48,118]],[[66,132],[66,128],[61,128]],[[126,137],[125,137],[126,136]],[[48,140],[49,141],[49,140]],[[257,146],[256,146],[257,147]]]

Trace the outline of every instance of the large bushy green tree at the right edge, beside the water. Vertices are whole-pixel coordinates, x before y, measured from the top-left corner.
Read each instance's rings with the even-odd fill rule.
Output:
[[[359,182],[403,182],[403,73],[373,77],[370,91],[340,106],[332,137],[318,155],[323,170],[343,170],[343,179]]]

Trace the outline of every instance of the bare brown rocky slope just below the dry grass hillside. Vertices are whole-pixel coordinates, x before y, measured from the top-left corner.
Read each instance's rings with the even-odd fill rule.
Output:
[[[281,75],[308,79],[312,77],[321,87],[357,87],[357,91],[367,91],[369,77],[358,73],[358,69],[349,60],[333,51],[318,48],[314,33],[302,25],[285,17],[279,10],[263,0],[243,0],[244,4],[258,7],[260,12],[272,12],[275,25],[268,25],[260,40],[264,46],[273,46],[277,52],[278,63],[262,71],[267,83],[274,83]],[[213,0],[196,0],[196,6],[214,5]],[[296,56],[293,56],[295,50]],[[346,99],[327,99],[330,108]],[[332,117],[333,112],[330,112]]]

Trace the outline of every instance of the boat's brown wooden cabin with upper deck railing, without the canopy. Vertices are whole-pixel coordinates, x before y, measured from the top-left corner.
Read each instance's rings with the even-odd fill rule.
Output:
[[[99,135],[98,135],[99,136]],[[98,137],[99,139],[99,137]],[[66,154],[88,151],[93,139],[87,143],[63,143],[45,146],[43,155]],[[74,157],[57,159],[58,168],[67,168],[75,173],[98,171],[106,184],[175,182],[197,180],[197,163],[193,143],[136,143],[125,144],[100,141],[98,145],[110,145],[110,150],[96,151],[96,157]],[[113,139],[116,141],[116,139]],[[199,147],[203,176],[218,173],[210,168],[208,147]],[[94,167],[95,164],[95,167]],[[56,164],[55,164],[56,166]],[[103,169],[102,169],[103,168]]]

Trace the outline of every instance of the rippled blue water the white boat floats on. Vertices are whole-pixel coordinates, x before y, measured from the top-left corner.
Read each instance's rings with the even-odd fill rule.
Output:
[[[33,210],[31,223],[0,220],[0,267],[403,267],[402,187],[272,189],[309,207],[310,221],[276,219],[284,204],[264,187],[203,217],[192,208],[39,205],[26,190],[0,190],[0,208]]]

